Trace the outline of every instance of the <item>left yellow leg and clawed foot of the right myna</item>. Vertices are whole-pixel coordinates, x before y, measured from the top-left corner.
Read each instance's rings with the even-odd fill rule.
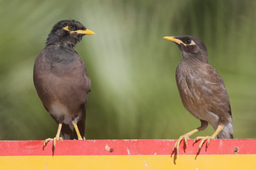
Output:
[[[196,129],[194,129],[194,130],[192,130],[192,131],[190,131],[190,132],[188,132],[188,133],[186,133],[186,134],[184,134],[184,135],[181,135],[181,136],[179,137],[179,139],[176,141],[176,143],[175,143],[174,146],[173,146],[173,151],[174,151],[175,148],[176,148],[177,153],[179,153],[180,142],[182,141],[182,139],[184,139],[184,143],[186,144],[186,146],[188,146],[188,139],[189,139],[189,136],[195,134],[196,132],[205,130],[205,128],[207,128],[207,126],[208,126],[207,121],[204,121],[204,120],[200,120],[200,121],[201,121],[201,126],[200,126],[200,127],[196,128]]]

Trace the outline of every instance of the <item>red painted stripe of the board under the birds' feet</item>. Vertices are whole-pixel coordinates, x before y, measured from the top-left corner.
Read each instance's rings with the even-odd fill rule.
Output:
[[[19,155],[171,155],[176,140],[86,140],[57,141],[54,153],[52,141],[44,147],[44,141],[0,141],[0,156]],[[188,140],[188,147],[180,144],[179,155],[195,155],[200,141],[193,145]],[[256,139],[214,139],[200,155],[256,154]]]

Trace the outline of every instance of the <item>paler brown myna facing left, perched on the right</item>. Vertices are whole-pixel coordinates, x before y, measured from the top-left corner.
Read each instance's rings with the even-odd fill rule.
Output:
[[[233,122],[228,93],[224,82],[214,67],[208,64],[208,53],[204,42],[194,36],[165,36],[164,39],[175,42],[183,56],[176,69],[176,82],[184,107],[195,118],[201,121],[201,126],[181,135],[173,150],[179,153],[182,139],[187,145],[189,136],[204,130],[208,123],[215,132],[211,136],[196,137],[202,139],[198,150],[204,141],[207,146],[210,139],[216,135],[220,139],[233,138]],[[194,142],[195,142],[194,141]]]

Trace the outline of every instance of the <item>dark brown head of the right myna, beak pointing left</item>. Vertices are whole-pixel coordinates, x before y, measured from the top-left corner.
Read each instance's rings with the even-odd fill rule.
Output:
[[[195,36],[164,36],[164,39],[175,42],[184,58],[197,58],[208,63],[208,53],[204,42]]]

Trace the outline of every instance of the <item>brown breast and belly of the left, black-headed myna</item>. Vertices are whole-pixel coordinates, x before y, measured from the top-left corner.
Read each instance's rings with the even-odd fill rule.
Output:
[[[44,50],[35,61],[34,83],[38,96],[50,113],[52,105],[65,107],[68,114],[78,114],[81,105],[86,102],[90,90],[90,79],[86,76],[83,61],[71,56],[69,63],[52,61]]]

